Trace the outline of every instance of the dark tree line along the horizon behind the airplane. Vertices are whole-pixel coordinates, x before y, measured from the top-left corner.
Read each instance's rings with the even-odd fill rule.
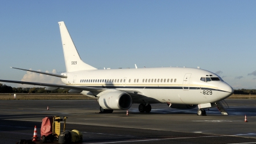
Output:
[[[0,93],[68,93],[66,88],[59,88],[58,90],[44,90],[44,88],[12,88],[12,86],[6,86],[6,84],[0,83]],[[255,89],[238,89],[234,90],[234,94],[241,95],[256,95]]]

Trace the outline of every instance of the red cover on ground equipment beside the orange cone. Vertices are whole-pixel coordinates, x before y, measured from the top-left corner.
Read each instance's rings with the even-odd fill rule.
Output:
[[[45,117],[42,120],[41,125],[41,138],[42,136],[49,136],[49,134],[52,134],[52,117]]]

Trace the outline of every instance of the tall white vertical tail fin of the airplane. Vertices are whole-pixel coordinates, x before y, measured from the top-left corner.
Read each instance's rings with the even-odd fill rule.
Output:
[[[68,33],[68,29],[64,22],[58,22],[60,26],[61,42],[64,52],[65,64],[67,72],[74,72],[78,70],[95,70],[97,68],[92,67],[84,63],[72,41],[71,36]]]

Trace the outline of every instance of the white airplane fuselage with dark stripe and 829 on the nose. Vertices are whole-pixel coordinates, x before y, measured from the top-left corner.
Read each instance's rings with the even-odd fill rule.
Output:
[[[186,74],[191,74],[191,76],[189,83],[184,84],[184,76]],[[207,77],[206,75],[208,75],[208,77],[209,75],[218,77],[212,72],[199,68],[165,67],[80,70],[77,72],[68,72],[68,78],[62,78],[61,80],[68,85],[106,87],[124,90],[124,92],[125,90],[138,91],[148,97],[148,99],[145,98],[145,101],[150,104],[159,102],[172,104],[205,104],[220,101],[232,94],[233,89],[224,81],[200,81],[200,78]],[[83,82],[83,80],[89,79],[90,81],[94,80],[94,82]],[[105,79],[108,80],[107,83],[105,83]],[[117,79],[119,80],[118,83],[115,82]],[[121,79],[122,83],[120,83]],[[134,82],[134,79],[136,82]],[[139,79],[138,83],[137,79]],[[145,79],[147,79],[147,83],[145,83]],[[148,79],[150,79],[149,83]],[[154,79],[153,82],[152,79]],[[159,82],[157,82],[158,79]],[[167,79],[169,79],[169,82],[167,82]],[[171,79],[173,79],[172,82],[170,82]],[[174,79],[177,79],[177,81],[174,82]],[[101,82],[98,82],[98,80],[101,80]],[[104,82],[102,82],[102,80],[104,80]],[[112,81],[114,82],[112,83]],[[185,90],[183,86],[189,86],[189,88]],[[208,95],[203,93],[203,91],[207,89],[212,91],[211,95],[209,93]],[[133,99],[133,102],[141,103],[141,100],[136,101],[136,99]]]

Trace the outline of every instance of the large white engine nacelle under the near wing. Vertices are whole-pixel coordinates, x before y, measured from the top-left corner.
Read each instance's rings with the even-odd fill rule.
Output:
[[[132,97],[125,92],[108,92],[100,95],[98,102],[104,109],[126,110],[132,106]]]

